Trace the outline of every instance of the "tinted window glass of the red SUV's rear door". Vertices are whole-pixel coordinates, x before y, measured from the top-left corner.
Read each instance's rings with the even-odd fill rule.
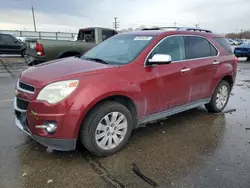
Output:
[[[203,57],[216,56],[218,54],[214,46],[205,38],[188,36],[187,47],[188,47],[188,59],[196,59]]]

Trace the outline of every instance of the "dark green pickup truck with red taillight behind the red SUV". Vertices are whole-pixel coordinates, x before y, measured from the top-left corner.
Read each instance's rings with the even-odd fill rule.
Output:
[[[76,56],[116,34],[113,29],[90,27],[79,30],[77,41],[26,39],[25,62],[32,66],[54,59]]]

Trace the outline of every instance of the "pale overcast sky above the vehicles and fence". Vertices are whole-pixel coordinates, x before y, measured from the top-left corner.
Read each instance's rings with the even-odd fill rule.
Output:
[[[88,26],[120,29],[145,26],[191,26],[219,33],[250,29],[250,0],[0,0],[0,29],[74,31]]]

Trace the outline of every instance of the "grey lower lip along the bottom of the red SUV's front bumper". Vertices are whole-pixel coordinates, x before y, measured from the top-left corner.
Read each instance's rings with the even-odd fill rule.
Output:
[[[75,150],[76,141],[77,141],[76,139],[56,139],[56,138],[46,138],[46,137],[33,135],[30,132],[29,128],[25,124],[21,123],[21,121],[17,117],[15,117],[15,124],[23,132],[25,132],[34,140],[36,140],[37,142],[39,142],[40,144],[46,147],[49,147],[54,150],[59,150],[59,151]]]

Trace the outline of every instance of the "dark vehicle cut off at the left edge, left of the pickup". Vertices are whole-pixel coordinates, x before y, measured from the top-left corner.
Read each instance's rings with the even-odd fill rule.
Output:
[[[24,57],[26,45],[10,34],[0,33],[0,54],[21,55]]]

